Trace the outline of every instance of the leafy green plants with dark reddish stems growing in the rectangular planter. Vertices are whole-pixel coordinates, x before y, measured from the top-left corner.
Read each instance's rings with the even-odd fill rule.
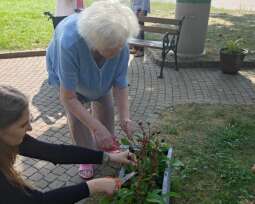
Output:
[[[127,139],[121,141],[122,144],[129,146],[138,160],[137,166],[128,166],[125,173],[136,172],[136,175],[113,197],[103,197],[101,204],[165,204],[165,198],[174,195],[169,192],[162,195],[165,169],[170,165],[167,156],[169,146],[160,139],[160,132],[150,131],[149,127],[146,133],[143,124],[139,123],[139,126],[141,133],[136,133],[132,141]]]

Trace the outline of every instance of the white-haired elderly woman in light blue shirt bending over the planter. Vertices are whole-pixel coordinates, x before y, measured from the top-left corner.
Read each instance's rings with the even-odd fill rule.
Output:
[[[126,40],[137,35],[132,10],[118,2],[99,1],[80,14],[65,18],[47,50],[49,84],[59,87],[71,135],[79,146],[116,150],[114,108],[128,136],[132,121],[128,108]],[[92,102],[92,113],[84,107]],[[93,176],[92,165],[80,165],[83,178]]]

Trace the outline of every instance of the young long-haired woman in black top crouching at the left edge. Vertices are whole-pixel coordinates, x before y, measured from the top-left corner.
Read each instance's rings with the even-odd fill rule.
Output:
[[[27,185],[14,169],[17,154],[54,164],[113,161],[133,163],[134,155],[111,154],[72,145],[41,142],[27,134],[32,130],[28,100],[13,87],[0,86],[0,203],[71,204],[94,193],[113,194],[120,187],[118,178],[99,178],[77,185],[40,192]]]

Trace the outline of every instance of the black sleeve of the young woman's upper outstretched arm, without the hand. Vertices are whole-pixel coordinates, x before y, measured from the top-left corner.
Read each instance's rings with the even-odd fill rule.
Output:
[[[74,145],[50,144],[29,135],[19,146],[19,154],[54,164],[101,164],[103,152]]]

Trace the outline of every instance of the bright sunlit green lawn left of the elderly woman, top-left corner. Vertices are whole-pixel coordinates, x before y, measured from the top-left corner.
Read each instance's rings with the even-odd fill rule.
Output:
[[[45,48],[52,28],[44,11],[53,11],[53,0],[1,0],[0,50]]]

